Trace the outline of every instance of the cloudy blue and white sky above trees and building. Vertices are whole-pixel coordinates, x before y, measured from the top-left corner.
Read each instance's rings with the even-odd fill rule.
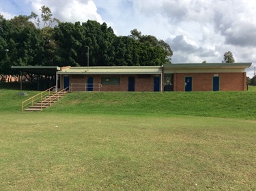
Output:
[[[142,35],[165,40],[173,50],[172,63],[218,63],[227,51],[236,63],[256,67],[256,1],[240,0],[0,0],[6,19],[18,15],[40,15],[51,8],[61,22],[96,20],[112,27],[116,35]]]

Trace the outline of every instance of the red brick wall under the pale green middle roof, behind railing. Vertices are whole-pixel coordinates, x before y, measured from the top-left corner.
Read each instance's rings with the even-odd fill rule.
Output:
[[[69,75],[70,76],[70,88],[72,91],[85,91],[84,85],[87,83],[87,77],[91,75]],[[92,75],[94,79],[94,91],[99,91],[98,84],[101,84],[101,78],[106,76],[120,76],[120,85],[102,85],[100,91],[128,91],[128,76],[135,77],[135,91],[154,91],[154,75],[150,75],[150,78],[140,78],[138,75]],[[61,76],[61,88],[63,88],[63,76]]]

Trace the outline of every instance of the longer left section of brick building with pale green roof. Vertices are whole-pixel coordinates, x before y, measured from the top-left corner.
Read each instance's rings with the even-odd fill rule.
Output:
[[[61,68],[61,89],[70,91],[162,91],[162,67]]]

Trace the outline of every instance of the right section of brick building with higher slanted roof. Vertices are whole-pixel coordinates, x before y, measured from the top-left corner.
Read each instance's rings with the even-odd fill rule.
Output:
[[[251,63],[186,63],[163,66],[173,91],[245,91]],[[164,82],[164,85],[166,83]]]

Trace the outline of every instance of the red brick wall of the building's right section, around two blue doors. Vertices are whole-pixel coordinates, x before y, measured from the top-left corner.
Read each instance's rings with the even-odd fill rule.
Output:
[[[174,91],[184,91],[185,77],[192,77],[193,91],[212,91],[214,74],[220,77],[220,91],[245,91],[246,73],[182,73],[174,74]]]

